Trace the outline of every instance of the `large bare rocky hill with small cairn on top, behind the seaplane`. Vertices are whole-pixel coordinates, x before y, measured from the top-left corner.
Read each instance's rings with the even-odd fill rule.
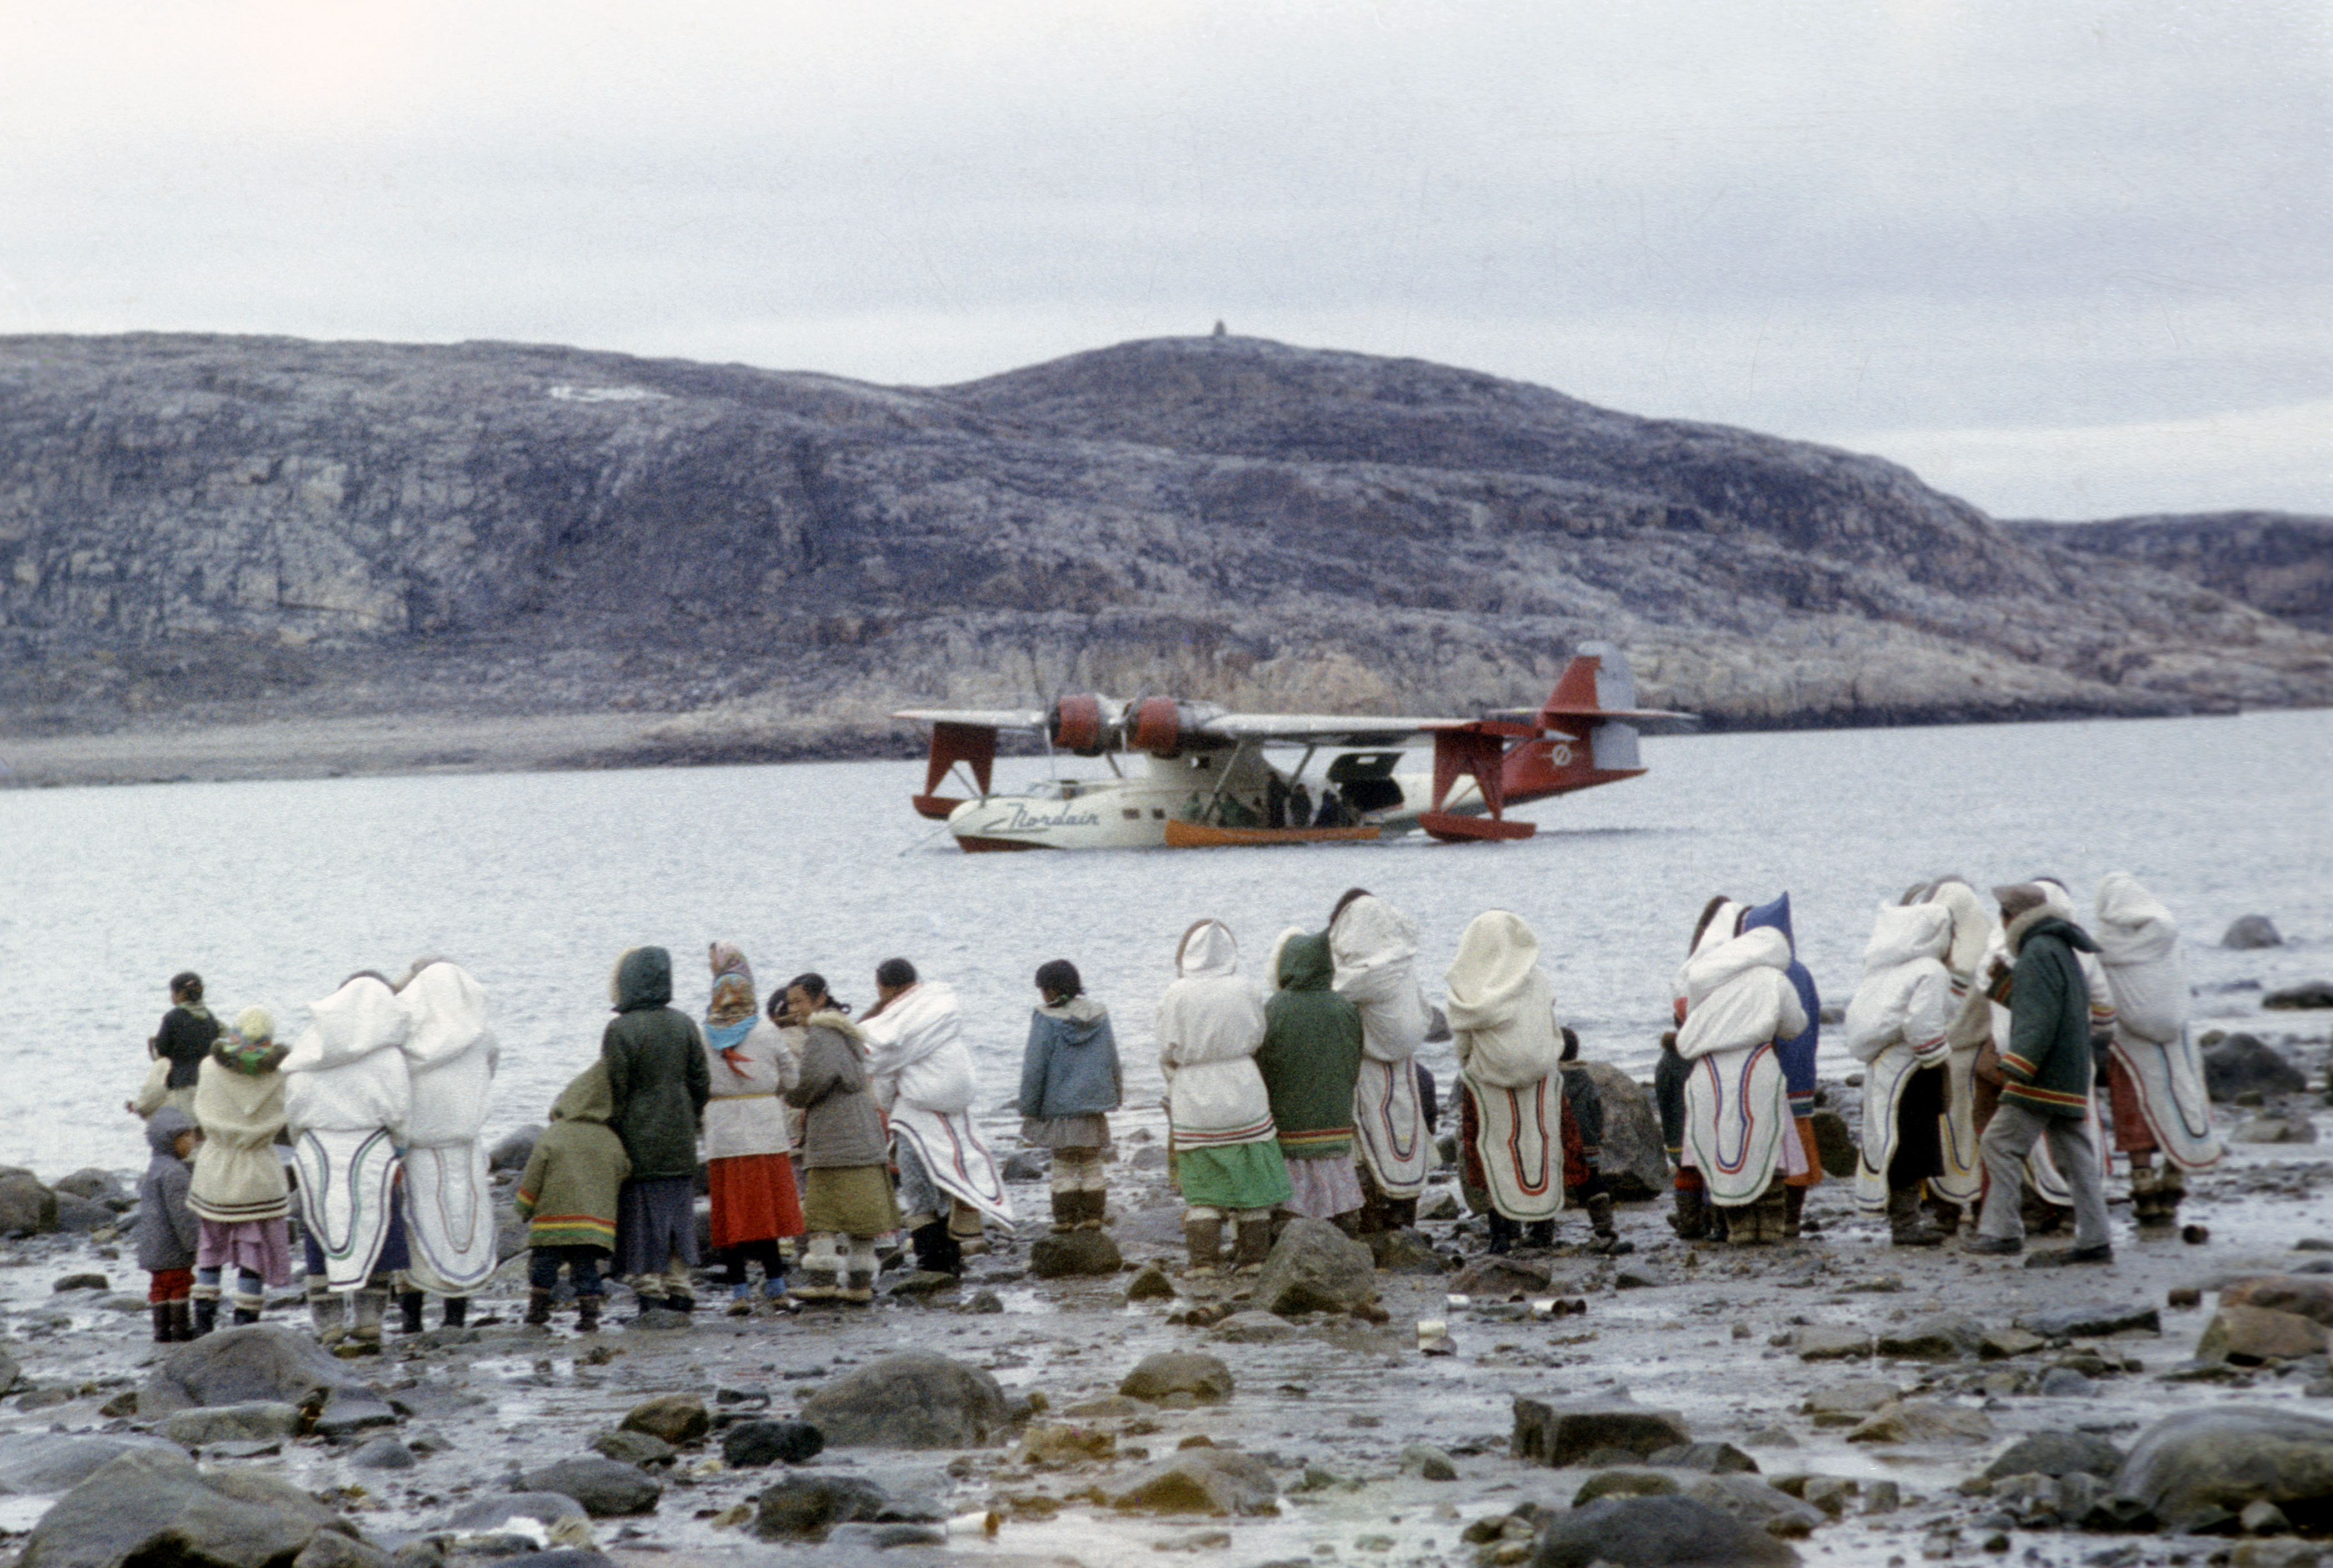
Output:
[[[908,744],[898,705],[1062,691],[1514,705],[1598,637],[1719,726],[2333,700],[2324,630],[2097,539],[1873,457],[1255,338],[933,390],[0,338],[9,735],[632,712],[639,742],[572,761],[863,754]]]

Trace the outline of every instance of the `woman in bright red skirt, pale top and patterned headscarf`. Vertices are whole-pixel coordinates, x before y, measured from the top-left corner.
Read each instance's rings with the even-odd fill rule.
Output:
[[[793,1190],[786,1101],[800,1076],[777,1024],[761,1017],[754,968],[733,943],[714,943],[712,999],[705,1003],[705,1181],[712,1192],[712,1246],[730,1288],[730,1316],[754,1311],[747,1265],[761,1265],[761,1293],[786,1311],[786,1255],[779,1241],[803,1234],[803,1199]]]

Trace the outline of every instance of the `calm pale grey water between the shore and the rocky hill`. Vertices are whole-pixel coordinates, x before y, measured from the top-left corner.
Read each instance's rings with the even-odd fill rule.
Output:
[[[145,1164],[119,1106],[180,968],[229,1017],[264,1003],[289,1031],[355,968],[460,959],[504,1048],[490,1132],[541,1120],[590,1062],[609,968],[639,943],[674,952],[688,1010],[714,938],[765,987],[817,968],[859,1003],[875,964],[908,954],[961,992],[992,1104],[1017,1083],[1043,959],[1076,959],[1111,1003],[1150,1104],[1150,1015],[1183,926],[1215,915],[1260,961],[1353,884],[1421,922],[1435,999],[1460,926],[1516,910],[1589,1055],[1633,1071],[1712,891],[1789,889],[1829,1001],[1855,985],[1871,908],[1948,870],[2051,873],[2083,908],[2102,873],[2135,873],[2191,938],[2205,1015],[2256,1017],[2256,996],[2214,987],[2333,975],[2328,712],[1680,737],[1645,761],[1642,779],[1528,807],[1542,831],[1519,845],[1125,854],[959,854],[908,807],[922,763],[0,793],[0,1164]],[[2212,945],[2249,912],[2291,945]],[[1446,1080],[1446,1048],[1428,1050]]]

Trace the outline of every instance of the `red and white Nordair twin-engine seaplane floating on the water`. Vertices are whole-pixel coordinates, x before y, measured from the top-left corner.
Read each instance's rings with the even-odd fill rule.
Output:
[[[1050,709],[891,714],[931,728],[915,810],[945,821],[966,852],[1197,849],[1369,842],[1428,833],[1444,842],[1530,838],[1507,807],[1645,772],[1638,735],[1698,726],[1635,705],[1628,660],[1586,644],[1537,709],[1474,719],[1372,714],[1232,714],[1213,702],[1094,693]],[[992,793],[996,737],[1036,733],[1057,758],[1101,758],[1106,777],[1050,777]],[[1432,772],[1395,772],[1432,744]],[[1281,761],[1267,756],[1278,751]],[[1302,751],[1292,765],[1288,751]],[[1318,775],[1313,761],[1327,756]],[[943,793],[945,786],[964,793]]]

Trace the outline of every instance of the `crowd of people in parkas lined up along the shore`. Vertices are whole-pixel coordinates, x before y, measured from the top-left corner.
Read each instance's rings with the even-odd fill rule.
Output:
[[[1654,1078],[1670,1223],[1684,1239],[1796,1239],[1822,1181],[1822,1003],[1789,896],[1710,898],[1687,950]],[[1507,910],[1477,915],[1442,1008],[1416,957],[1416,924],[1365,889],[1320,931],[1283,931],[1262,987],[1229,926],[1185,929],[1157,1048],[1192,1274],[1262,1267],[1297,1216],[1355,1237],[1414,1225],[1437,1164],[1435,1078],[1416,1062],[1428,1038],[1458,1057],[1458,1176],[1488,1248],[1547,1246],[1577,1204],[1589,1248],[1631,1251],[1598,1169],[1603,1104],[1537,936]],[[551,1321],[562,1274],[586,1332],[609,1274],[642,1311],[691,1311],[700,1176],[740,1316],[870,1302],[880,1246],[901,1232],[917,1267],[961,1274],[989,1220],[1013,1225],[945,982],[887,959],[854,1015],[817,973],[761,999],[747,957],[714,943],[702,1020],[672,994],[667,950],[618,959],[600,1055],[534,1141],[516,1195],[530,1323]],[[1036,971],[1036,994],[1022,1143],[1050,1153],[1052,1230],[1101,1230],[1125,1099],[1111,1015],[1069,959]],[[170,1001],[131,1101],[154,1150],[138,1211],[154,1337],[210,1332],[222,1307],[259,1321],[266,1290],[292,1281],[294,1204],[322,1342],[376,1349],[392,1300],[418,1332],[429,1295],[460,1325],[497,1265],[478,1143],[497,1045],[478,980],[441,957],[401,980],[359,971],[289,1043],[266,1008],[215,1017],[194,973],[173,978]],[[2048,877],[1990,901],[1962,877],[1908,889],[1878,910],[1845,1008],[1864,1064],[1857,1202],[1885,1213],[1894,1246],[1939,1246],[1974,1206],[1962,1246],[1997,1255],[2023,1251],[2027,1216],[2072,1211],[2074,1244],[2030,1262],[2107,1262],[2111,1125],[2139,1223],[2174,1223],[2181,1171],[2221,1157],[2186,1001],[2177,924],[2123,873],[2102,880],[2088,929]]]

